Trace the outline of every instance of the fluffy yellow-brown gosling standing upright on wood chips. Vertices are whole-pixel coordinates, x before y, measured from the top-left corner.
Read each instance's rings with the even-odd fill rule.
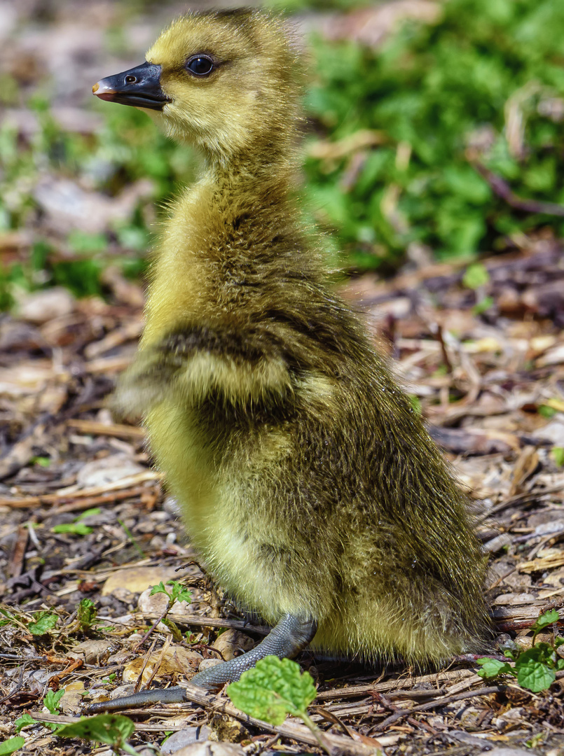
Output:
[[[308,644],[433,665],[478,651],[487,627],[466,498],[301,222],[300,72],[279,18],[215,11],[93,88],[203,156],[116,402],[144,417],[207,570],[274,626],[193,678],[208,689]]]

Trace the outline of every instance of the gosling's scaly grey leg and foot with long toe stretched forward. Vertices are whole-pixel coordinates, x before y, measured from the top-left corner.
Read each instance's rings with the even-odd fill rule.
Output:
[[[198,672],[190,680],[191,683],[204,688],[215,690],[225,683],[232,683],[265,656],[278,658],[294,658],[301,652],[316,634],[317,622],[311,617],[303,618],[294,615],[284,615],[270,631],[266,638],[255,646],[252,651]],[[142,690],[132,696],[123,696],[113,701],[101,701],[89,706],[87,714],[98,714],[100,711],[120,711],[124,708],[136,708],[154,703],[182,703],[186,700],[185,689],[174,686],[165,689]]]

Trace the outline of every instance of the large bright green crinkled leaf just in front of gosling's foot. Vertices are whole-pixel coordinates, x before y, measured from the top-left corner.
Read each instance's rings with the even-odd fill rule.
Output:
[[[300,716],[316,697],[311,675],[291,659],[276,656],[260,659],[226,692],[245,714],[274,725],[282,724],[286,714]]]

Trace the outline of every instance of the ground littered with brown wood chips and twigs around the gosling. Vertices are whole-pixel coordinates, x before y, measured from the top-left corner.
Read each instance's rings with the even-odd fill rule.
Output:
[[[538,238],[512,256],[485,260],[488,282],[480,293],[464,285],[467,268],[445,264],[341,287],[366,311],[380,349],[390,353],[460,481],[480,500],[496,634],[522,647],[531,644],[534,620],[562,606],[564,593],[561,256],[560,243]],[[129,300],[132,291],[129,284]],[[491,318],[476,314],[482,296],[496,303]],[[237,653],[248,648],[248,636],[260,638],[253,626],[217,636],[223,627],[240,630],[242,618],[222,605],[192,562],[142,430],[114,423],[106,407],[142,327],[141,307],[127,299],[76,301],[65,290],[48,290],[30,296],[20,317],[5,318],[0,329],[2,414],[13,439],[0,468],[3,599],[13,618],[0,628],[0,726],[7,736],[23,711],[40,716],[47,683],[67,689],[62,714],[78,714],[83,699],[135,683],[148,660],[160,662],[152,680],[160,685],[184,679],[201,657],[217,658],[217,649]],[[145,589],[176,577],[187,578],[192,592],[192,603],[170,615],[182,634],[160,624],[145,637],[167,603]],[[84,598],[95,603],[98,625],[77,622]],[[47,609],[58,624],[33,634],[29,622]],[[540,640],[555,630],[547,628]],[[525,742],[557,753],[564,743],[559,680],[532,693],[508,678],[482,680],[473,661],[432,674],[401,665],[335,667],[307,654],[302,661],[319,682],[313,718],[332,733],[378,741],[389,754]],[[226,702],[220,696],[211,709],[185,704],[132,714],[139,722],[132,742],[160,742],[164,730],[202,723],[217,732],[211,711]],[[40,725],[24,733],[30,752],[47,743],[63,748]],[[260,733],[248,727],[229,737],[263,742]],[[282,743],[292,750],[287,738]]]

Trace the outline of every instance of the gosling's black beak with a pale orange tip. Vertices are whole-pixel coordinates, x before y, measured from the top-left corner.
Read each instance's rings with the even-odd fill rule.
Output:
[[[170,98],[160,88],[160,66],[143,63],[129,71],[106,76],[92,87],[92,95],[122,105],[163,110]]]

